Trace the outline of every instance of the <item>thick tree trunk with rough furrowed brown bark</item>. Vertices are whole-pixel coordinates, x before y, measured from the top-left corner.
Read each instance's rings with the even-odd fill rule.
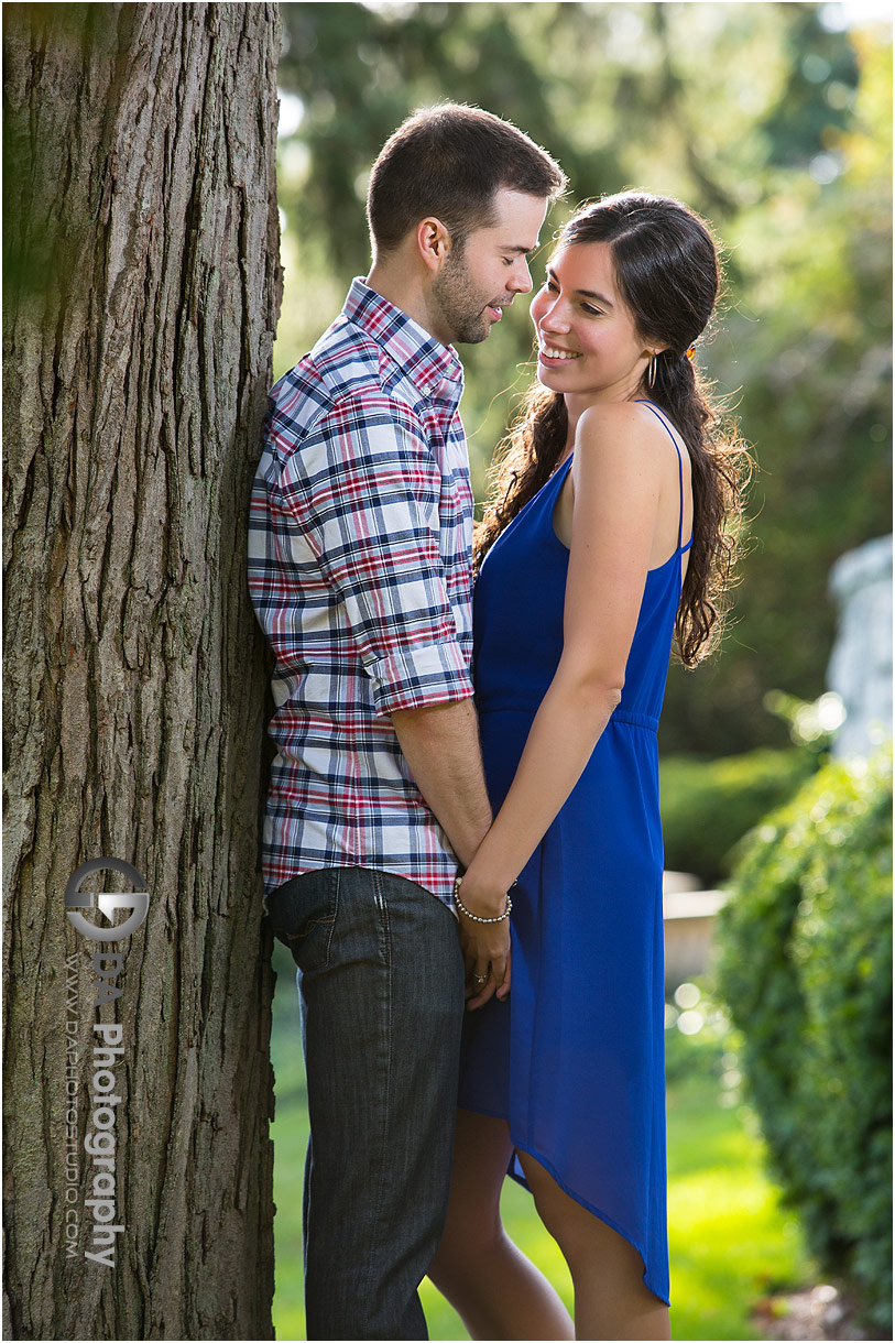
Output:
[[[5,5],[4,46],[7,1336],[273,1338],[245,524],[277,5]],[[146,881],[126,940],[65,913],[101,855]],[[99,1007],[95,952],[122,958]],[[114,1268],[85,1257],[97,1022],[121,1026]]]

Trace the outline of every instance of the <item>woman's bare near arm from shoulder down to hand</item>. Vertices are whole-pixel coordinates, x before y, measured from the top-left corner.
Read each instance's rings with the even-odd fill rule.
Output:
[[[563,651],[532,723],[507,799],[461,886],[478,915],[497,915],[581,778],[613,709],[637,629],[658,517],[663,457],[638,407],[593,407],[582,415],[572,463],[574,512],[563,612]],[[507,924],[461,915],[466,964],[488,968]],[[495,991],[493,980],[472,1006]],[[499,997],[505,997],[508,979]]]

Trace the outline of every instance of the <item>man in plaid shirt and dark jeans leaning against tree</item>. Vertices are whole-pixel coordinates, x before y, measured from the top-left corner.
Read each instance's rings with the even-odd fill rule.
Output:
[[[452,345],[531,290],[563,187],[491,113],[411,117],[374,165],[370,275],[271,391],[249,572],[277,659],[263,872],[301,970],[309,1338],[427,1336],[464,1009],[452,892],[492,819]]]

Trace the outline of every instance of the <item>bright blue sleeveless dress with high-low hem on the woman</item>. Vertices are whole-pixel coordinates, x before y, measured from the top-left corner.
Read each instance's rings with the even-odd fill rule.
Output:
[[[663,426],[664,418],[646,402]],[[673,439],[673,435],[672,441]],[[677,446],[677,445],[675,445]],[[513,889],[512,991],[466,1014],[460,1105],[509,1121],[579,1203],[640,1252],[669,1300],[663,835],[656,729],[681,592],[677,549],[646,576],[618,708]],[[504,529],[474,596],[474,677],[495,811],[563,647],[571,465]],[[509,1171],[525,1183],[513,1154]]]

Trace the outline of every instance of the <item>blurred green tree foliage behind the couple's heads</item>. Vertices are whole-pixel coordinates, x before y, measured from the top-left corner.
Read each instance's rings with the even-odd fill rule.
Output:
[[[753,445],[751,537],[720,654],[669,676],[663,752],[783,747],[769,690],[824,689],[844,551],[891,529],[891,26],[839,4],[284,4],[277,375],[370,266],[370,165],[415,107],[508,117],[581,200],[681,197],[726,247],[697,359]],[[528,304],[464,346],[473,482],[528,385]]]

